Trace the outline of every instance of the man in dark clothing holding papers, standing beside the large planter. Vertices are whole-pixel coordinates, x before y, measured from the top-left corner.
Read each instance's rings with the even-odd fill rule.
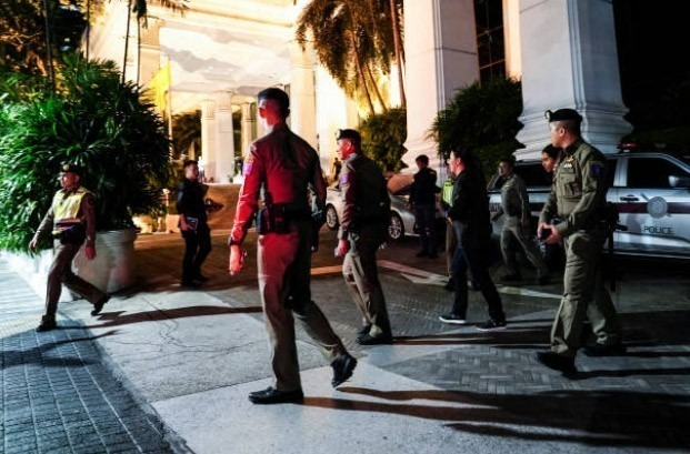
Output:
[[[206,282],[201,265],[211,252],[211,230],[207,223],[203,195],[206,188],[199,183],[199,164],[184,161],[184,179],[178,184],[177,209],[180,214],[180,231],[184,239],[182,259],[182,286],[197,286]]]

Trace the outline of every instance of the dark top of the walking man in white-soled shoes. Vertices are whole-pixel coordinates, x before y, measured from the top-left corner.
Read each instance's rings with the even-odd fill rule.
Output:
[[[462,248],[487,249],[490,246],[489,196],[487,185],[480,174],[466,170],[456,178],[453,204],[448,216],[456,225]]]

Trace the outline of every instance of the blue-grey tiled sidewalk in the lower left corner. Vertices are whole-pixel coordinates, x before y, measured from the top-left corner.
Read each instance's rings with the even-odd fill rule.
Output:
[[[66,321],[36,333],[43,304],[1,259],[0,289],[0,453],[172,452],[89,330]]]

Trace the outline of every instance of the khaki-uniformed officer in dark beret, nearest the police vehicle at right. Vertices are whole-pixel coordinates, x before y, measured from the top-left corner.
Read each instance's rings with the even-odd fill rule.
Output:
[[[572,109],[547,111],[551,143],[563,154],[556,169],[553,189],[541,215],[537,234],[548,231],[547,244],[563,241],[566,272],[563,297],[553,326],[551,351],[537,360],[566,374],[577,372],[574,357],[580,347],[582,325],[589,317],[597,343],[586,347],[590,355],[623,354],[616,307],[603,286],[601,249],[607,230],[603,223],[607,168],[603,154],[584,142],[582,117]],[[557,223],[549,222],[557,219]]]

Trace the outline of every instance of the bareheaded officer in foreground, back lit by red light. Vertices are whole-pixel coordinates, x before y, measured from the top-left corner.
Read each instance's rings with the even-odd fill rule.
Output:
[[[257,221],[259,291],[271,345],[273,384],[249,394],[254,404],[299,403],[303,400],[294,340],[294,319],[318,343],[333,367],[331,385],[352,376],[357,360],[333,333],[328,320],[311,301],[311,252],[318,249],[318,233],[326,204],[326,182],[319,155],[286,124],[290,114],[288,94],[269,88],[258,95],[259,119],[267,134],[251,144],[242,174],[237,213],[228,240],[229,271],[242,269],[240,245],[244,241],[262,195]],[[309,191],[316,195],[309,204]],[[319,216],[314,223],[314,214]],[[316,224],[316,225],[314,225]]]

